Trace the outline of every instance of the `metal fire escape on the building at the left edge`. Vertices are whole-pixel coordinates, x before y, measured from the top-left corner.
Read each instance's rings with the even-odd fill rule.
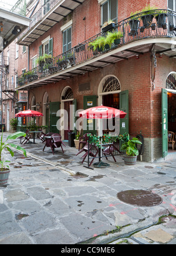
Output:
[[[9,74],[9,57],[4,56],[4,52],[2,51],[0,54],[0,84],[1,90],[4,94],[11,99],[12,101],[16,101],[15,98],[15,84],[11,84],[8,79],[7,75]],[[2,101],[2,94],[1,94],[1,101]]]

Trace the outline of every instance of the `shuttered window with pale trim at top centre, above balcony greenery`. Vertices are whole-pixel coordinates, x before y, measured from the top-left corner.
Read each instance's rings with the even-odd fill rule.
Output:
[[[101,25],[106,21],[117,23],[118,0],[108,0],[101,5]]]

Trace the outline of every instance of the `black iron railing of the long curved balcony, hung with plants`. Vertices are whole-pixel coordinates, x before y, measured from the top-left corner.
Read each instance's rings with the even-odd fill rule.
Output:
[[[63,52],[63,54],[45,59],[45,62],[41,62],[38,67],[20,75],[18,77],[18,86],[20,87],[28,84],[28,82],[48,77],[53,73],[76,66],[129,42],[156,36],[175,37],[176,12],[164,9],[141,12],[117,24],[111,24],[111,26],[113,28],[109,31],[102,31],[82,42],[82,44]],[[114,36],[115,32],[121,35],[117,42],[114,39],[113,41],[110,39],[110,36]]]

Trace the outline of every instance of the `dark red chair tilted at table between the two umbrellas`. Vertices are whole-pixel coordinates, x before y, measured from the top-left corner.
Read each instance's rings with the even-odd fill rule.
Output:
[[[66,145],[63,143],[63,141],[61,140],[61,135],[60,134],[46,134],[46,137],[50,137],[50,138],[46,138],[45,141],[45,146],[43,148],[43,151],[45,149],[45,147],[50,147],[52,149],[53,154],[55,153],[55,148],[62,148],[62,145],[64,145],[66,147]],[[62,148],[62,152],[63,148]]]

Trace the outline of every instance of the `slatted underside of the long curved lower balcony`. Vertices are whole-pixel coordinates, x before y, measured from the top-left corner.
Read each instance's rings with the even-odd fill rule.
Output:
[[[37,87],[42,87],[43,85],[48,85],[53,82],[62,81],[65,79],[70,79],[76,75],[85,75],[87,72],[91,74],[95,69],[103,70],[107,65],[114,65],[116,62],[121,60],[128,61],[131,57],[136,58],[136,62],[141,56],[147,52],[151,52],[154,48],[155,55],[161,57],[163,54],[169,56],[170,58],[176,58],[176,52],[171,49],[170,44],[144,44],[134,46],[133,48],[126,48],[119,52],[107,52],[97,56],[96,58],[90,59],[82,64],[72,66],[66,69],[62,69],[56,73],[48,75],[48,77],[38,79],[36,81],[30,82],[29,84],[18,87],[21,89],[33,89]],[[168,51],[168,49],[171,49]],[[134,63],[134,62],[133,62]],[[128,71],[127,71],[128,72]]]

